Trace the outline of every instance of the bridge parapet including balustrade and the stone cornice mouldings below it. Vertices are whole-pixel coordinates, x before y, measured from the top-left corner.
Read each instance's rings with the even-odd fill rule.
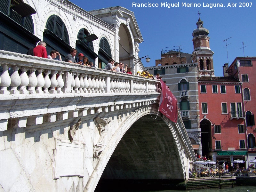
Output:
[[[0,65],[0,131],[151,104],[159,94],[155,79],[25,54],[0,50]]]

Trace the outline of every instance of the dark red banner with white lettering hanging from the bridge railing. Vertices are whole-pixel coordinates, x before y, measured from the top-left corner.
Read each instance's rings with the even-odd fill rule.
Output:
[[[177,123],[178,119],[178,106],[177,99],[174,97],[168,86],[160,80],[162,92],[159,102],[159,111],[164,114],[168,119]]]

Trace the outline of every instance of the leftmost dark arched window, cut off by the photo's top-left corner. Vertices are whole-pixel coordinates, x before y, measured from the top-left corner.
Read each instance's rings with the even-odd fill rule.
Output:
[[[36,11],[28,4],[23,3],[21,0],[1,0],[0,11],[34,34],[31,14],[36,13]]]

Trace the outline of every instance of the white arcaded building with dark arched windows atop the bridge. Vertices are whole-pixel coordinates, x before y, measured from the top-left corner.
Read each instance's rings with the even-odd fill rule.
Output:
[[[3,0],[0,7],[2,50],[26,54],[42,40],[47,53],[56,50],[62,60],[76,48],[96,68],[113,59],[134,71],[144,69],[141,62],[134,66],[143,38],[133,12],[123,7],[87,12],[65,0]]]

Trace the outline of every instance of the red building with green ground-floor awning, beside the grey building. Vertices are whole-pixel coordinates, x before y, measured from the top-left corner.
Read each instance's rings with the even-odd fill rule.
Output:
[[[232,76],[198,77],[202,155],[229,166],[247,155],[241,90],[242,83]]]

